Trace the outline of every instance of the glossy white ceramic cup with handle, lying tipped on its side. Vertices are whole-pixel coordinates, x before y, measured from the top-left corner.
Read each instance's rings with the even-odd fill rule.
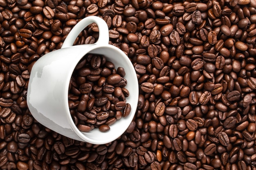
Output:
[[[73,46],[79,33],[95,22],[99,27],[99,39],[94,44]],[[108,26],[96,16],[89,16],[78,22],[63,42],[61,49],[40,57],[31,69],[27,90],[27,105],[33,117],[47,128],[66,137],[89,142],[107,144],[120,137],[130,125],[137,108],[139,86],[129,58],[117,47],[108,44]],[[68,107],[68,87],[70,78],[79,60],[88,53],[106,56],[106,59],[123,67],[126,71],[126,88],[130,95],[126,102],[131,105],[128,117],[122,117],[110,126],[107,132],[94,128],[90,132],[81,132],[70,115]]]

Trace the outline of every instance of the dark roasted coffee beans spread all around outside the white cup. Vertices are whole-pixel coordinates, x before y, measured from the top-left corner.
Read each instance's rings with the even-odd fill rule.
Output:
[[[256,0],[0,0],[0,168],[255,170],[255,8]],[[109,43],[139,80],[132,123],[105,145],[45,128],[26,104],[34,62],[90,15],[106,21]],[[96,42],[98,31],[90,24],[74,44]]]

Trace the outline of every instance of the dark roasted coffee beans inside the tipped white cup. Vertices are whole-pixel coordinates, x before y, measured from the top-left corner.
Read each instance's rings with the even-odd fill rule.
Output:
[[[130,114],[125,75],[123,67],[116,70],[103,55],[87,54],[81,59],[71,76],[68,94],[70,113],[80,131],[96,127],[106,132]]]

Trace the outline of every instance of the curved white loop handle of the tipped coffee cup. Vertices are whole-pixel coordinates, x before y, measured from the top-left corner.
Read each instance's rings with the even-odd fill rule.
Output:
[[[88,16],[84,18],[83,20],[79,21],[68,33],[67,38],[63,42],[61,49],[73,46],[74,41],[76,40],[76,37],[85,29],[86,26],[89,24],[95,22],[99,27],[99,39],[94,44],[108,44],[109,42],[109,36],[108,36],[108,25],[107,23],[97,17],[97,16]]]

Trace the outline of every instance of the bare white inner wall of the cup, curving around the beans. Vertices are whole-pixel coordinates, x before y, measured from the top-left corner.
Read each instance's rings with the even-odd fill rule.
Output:
[[[115,64],[116,69],[118,67],[123,67],[126,72],[124,78],[127,80],[127,85],[125,88],[127,88],[130,93],[129,97],[126,97],[126,103],[131,105],[131,112],[128,117],[122,117],[117,120],[110,126],[110,130],[107,132],[101,132],[99,131],[99,128],[94,128],[90,132],[81,132],[75,126],[73,121],[70,122],[73,130],[81,137],[81,139],[92,144],[106,144],[120,137],[130,125],[137,109],[139,85],[135,69],[130,62],[130,59],[117,47],[112,45],[101,46],[88,53],[104,55],[108,61]],[[71,115],[68,115],[68,118],[70,119]]]

